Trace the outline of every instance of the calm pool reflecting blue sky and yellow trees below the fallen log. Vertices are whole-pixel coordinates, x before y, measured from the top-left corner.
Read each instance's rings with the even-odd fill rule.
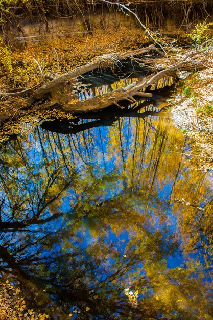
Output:
[[[212,174],[192,148],[167,112],[5,142],[1,269],[74,319],[213,319]]]

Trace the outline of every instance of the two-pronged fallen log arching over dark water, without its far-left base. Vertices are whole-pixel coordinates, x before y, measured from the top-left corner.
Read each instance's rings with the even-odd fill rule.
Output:
[[[119,106],[119,101],[128,100],[129,102],[135,102],[134,96],[143,97],[144,100],[152,98],[152,93],[146,92],[149,88],[157,83],[160,79],[172,76],[174,78],[177,77],[177,72],[180,71],[193,71],[200,70],[203,68],[203,64],[199,61],[182,61],[180,63],[176,63],[166,68],[160,68],[156,65],[157,60],[149,57],[143,57],[140,62],[143,62],[151,73],[151,75],[140,79],[124,88],[114,90],[113,92],[106,93],[103,95],[99,95],[90,99],[86,99],[84,101],[79,101],[76,95],[73,95],[70,92],[73,89],[72,81],[75,81],[75,78],[94,70],[96,68],[100,68],[100,66],[109,66],[113,65],[117,61],[122,61],[127,58],[133,58],[134,56],[138,56],[141,54],[145,54],[147,52],[157,52],[160,56],[164,56],[164,54],[153,45],[149,47],[142,48],[135,51],[129,51],[124,54],[116,53],[111,55],[104,55],[101,57],[97,57],[94,61],[76,68],[73,71],[68,72],[48,83],[42,85],[36,92],[33,94],[33,99],[43,99],[44,97],[48,97],[50,99],[50,103],[47,104],[48,107],[51,105],[60,106],[63,110],[72,113],[86,113],[90,111],[98,111],[104,109],[110,105]],[[71,82],[71,86],[70,86]],[[69,85],[69,90],[62,90],[61,93],[58,92],[58,88],[65,88],[66,85]]]

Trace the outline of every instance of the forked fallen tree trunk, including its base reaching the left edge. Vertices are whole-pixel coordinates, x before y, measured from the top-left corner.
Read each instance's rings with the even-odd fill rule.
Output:
[[[53,106],[74,115],[97,112],[109,106],[115,106],[114,109],[117,107],[122,109],[124,108],[124,104],[121,101],[124,100],[126,100],[128,104],[135,102],[136,99],[144,101],[151,100],[153,88],[158,88],[158,82],[162,81],[162,79],[164,80],[169,77],[178,78],[177,73],[180,71],[193,71],[205,68],[205,65],[200,61],[185,59],[180,63],[173,64],[167,68],[162,68],[157,64],[159,55],[155,59],[153,56],[151,56],[151,58],[140,57],[139,60],[140,62],[142,61],[143,66],[145,66],[146,74],[148,74],[148,76],[146,75],[144,78],[139,79],[124,88],[94,96],[93,98],[83,101],[80,101],[78,95],[73,93],[73,84],[77,81],[76,77],[104,66],[112,66],[113,68],[114,64],[125,60],[127,57],[138,60],[138,58],[135,58],[134,56],[143,55],[150,51],[157,52],[157,54],[163,56],[163,53],[161,53],[159,49],[150,45],[149,47],[141,48],[139,50],[128,51],[125,54],[114,53],[112,55],[97,57],[97,59],[92,62],[61,75],[36,89],[32,97],[28,99],[28,105],[17,108],[15,104],[9,105],[9,101],[5,101],[5,106],[2,108],[0,114],[0,122],[4,123],[8,120],[15,120],[27,113],[50,109]],[[166,62],[168,63],[168,60]],[[26,91],[27,89],[20,90],[18,93],[10,93],[8,94],[8,98],[6,97],[7,94],[4,94],[4,98],[11,100],[14,96]],[[4,102],[2,101],[2,104],[3,103]]]

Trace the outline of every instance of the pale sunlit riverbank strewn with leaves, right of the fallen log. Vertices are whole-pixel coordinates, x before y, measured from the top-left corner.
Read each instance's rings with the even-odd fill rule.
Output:
[[[182,79],[169,106],[174,123],[192,138],[196,162],[203,170],[213,170],[213,50],[203,53],[203,71]]]

